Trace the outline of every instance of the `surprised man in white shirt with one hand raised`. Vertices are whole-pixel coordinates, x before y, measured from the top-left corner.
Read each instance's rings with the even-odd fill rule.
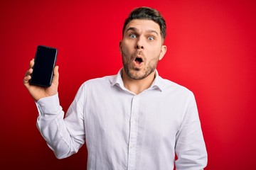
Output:
[[[207,153],[195,98],[156,71],[166,53],[164,18],[136,8],[122,34],[123,68],[82,84],[64,119],[58,67],[49,88],[31,86],[31,61],[23,84],[38,106],[38,130],[59,159],[86,142],[87,169],[203,169]]]

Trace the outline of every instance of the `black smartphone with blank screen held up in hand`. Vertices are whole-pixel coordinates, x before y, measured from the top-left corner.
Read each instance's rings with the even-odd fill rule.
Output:
[[[38,45],[31,74],[30,84],[49,87],[53,81],[53,68],[58,50],[54,47]]]

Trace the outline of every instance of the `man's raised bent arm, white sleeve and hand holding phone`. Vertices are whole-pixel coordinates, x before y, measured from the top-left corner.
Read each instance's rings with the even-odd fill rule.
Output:
[[[77,95],[70,106],[65,120],[64,113],[58,101],[58,67],[53,71],[53,82],[48,88],[29,84],[33,72],[34,60],[31,60],[29,69],[23,79],[23,84],[28,89],[38,107],[37,126],[48,146],[53,149],[56,157],[70,156],[84,143],[84,127],[82,123],[82,96]],[[80,93],[81,94],[81,93]],[[80,100],[81,99],[81,100]]]

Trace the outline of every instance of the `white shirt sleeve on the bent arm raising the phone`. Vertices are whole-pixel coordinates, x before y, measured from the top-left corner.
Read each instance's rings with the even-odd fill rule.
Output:
[[[80,87],[65,118],[58,94],[36,102],[39,112],[36,123],[38,130],[58,159],[75,154],[85,143],[84,101],[85,91]]]

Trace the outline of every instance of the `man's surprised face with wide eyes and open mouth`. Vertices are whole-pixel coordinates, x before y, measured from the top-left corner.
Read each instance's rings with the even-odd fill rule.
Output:
[[[144,79],[154,72],[166,52],[160,27],[151,20],[135,19],[124,29],[120,42],[124,71],[131,79]]]

